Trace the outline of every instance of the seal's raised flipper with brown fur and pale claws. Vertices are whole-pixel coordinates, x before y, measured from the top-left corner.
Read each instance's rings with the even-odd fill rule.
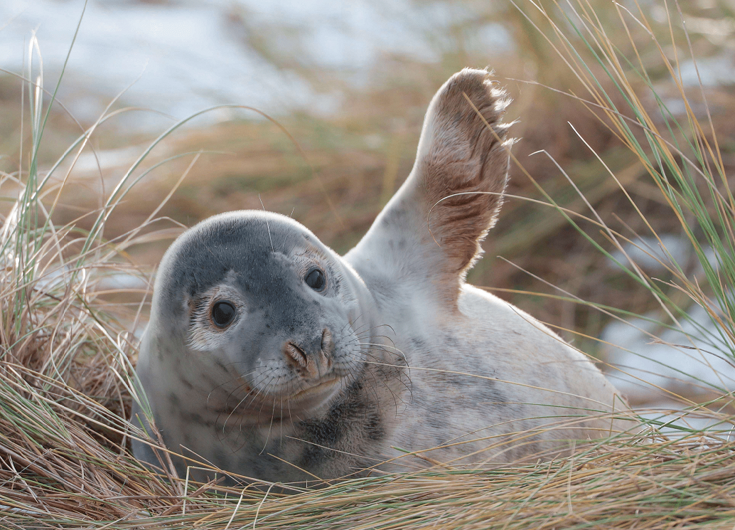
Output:
[[[345,256],[366,281],[431,285],[456,307],[501,207],[512,141],[500,123],[507,104],[484,70],[465,68],[440,88],[408,179]]]

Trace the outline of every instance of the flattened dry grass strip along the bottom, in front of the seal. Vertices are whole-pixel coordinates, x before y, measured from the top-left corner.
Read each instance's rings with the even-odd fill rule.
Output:
[[[735,521],[733,445],[697,438],[603,445],[496,471],[353,479],[284,496],[262,484],[184,490],[99,449],[84,429],[65,430],[44,437],[53,450],[13,447],[18,473],[4,470],[0,490],[6,528],[670,529]]]

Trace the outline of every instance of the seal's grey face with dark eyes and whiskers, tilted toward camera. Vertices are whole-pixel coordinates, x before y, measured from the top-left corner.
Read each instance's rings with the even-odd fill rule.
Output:
[[[153,312],[173,314],[157,322],[158,340],[222,372],[221,388],[201,389],[227,393],[213,407],[299,414],[362,370],[370,339],[359,332],[370,325],[360,320],[361,287],[299,223],[266,212],[218,215],[179,237],[162,262]]]

